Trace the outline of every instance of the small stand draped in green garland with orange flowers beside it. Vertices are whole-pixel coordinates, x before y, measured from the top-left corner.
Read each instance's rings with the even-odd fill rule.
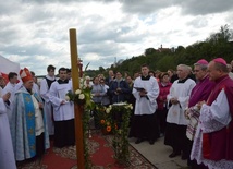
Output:
[[[132,109],[133,106],[125,102],[113,104],[109,107],[98,105],[96,108],[103,134],[113,134],[114,157],[120,166],[130,165],[127,134]]]

